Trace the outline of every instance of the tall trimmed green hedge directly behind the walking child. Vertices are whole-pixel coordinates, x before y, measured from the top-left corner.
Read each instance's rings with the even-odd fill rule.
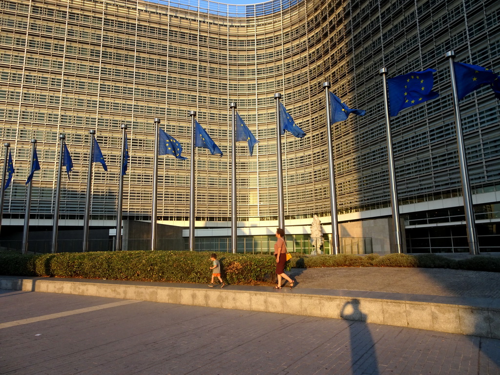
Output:
[[[114,280],[208,282],[211,252],[108,251],[19,255],[0,253],[0,274]],[[217,253],[229,283],[271,280],[270,255]]]

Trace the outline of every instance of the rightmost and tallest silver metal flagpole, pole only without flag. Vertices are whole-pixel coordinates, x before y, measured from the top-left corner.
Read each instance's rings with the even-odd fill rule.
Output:
[[[453,95],[456,143],[458,146],[458,164],[460,167],[460,179],[462,182],[463,209],[465,211],[467,240],[469,243],[470,254],[477,255],[479,253],[479,245],[477,241],[477,233],[475,230],[474,206],[472,204],[472,194],[470,192],[470,184],[467,171],[467,158],[465,154],[465,145],[463,142],[462,124],[460,121],[460,107],[458,106],[458,95],[456,93],[456,78],[455,78],[455,70],[453,69],[454,56],[455,56],[454,51],[448,51],[445,53],[445,57],[447,57],[449,61],[449,75],[451,77],[451,93]]]

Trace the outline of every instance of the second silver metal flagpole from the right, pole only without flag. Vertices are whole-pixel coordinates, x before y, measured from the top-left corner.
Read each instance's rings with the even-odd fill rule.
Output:
[[[381,68],[379,74],[383,82],[383,100],[385,104],[385,130],[387,135],[387,161],[389,163],[390,205],[392,208],[392,225],[394,229],[394,246],[400,253],[402,248],[401,224],[399,222],[399,201],[397,198],[396,172],[394,168],[394,153],[392,151],[392,136],[390,135],[389,98],[387,96],[387,69]]]

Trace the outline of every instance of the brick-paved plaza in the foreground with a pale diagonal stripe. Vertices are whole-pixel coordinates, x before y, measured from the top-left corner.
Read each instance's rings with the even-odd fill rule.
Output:
[[[1,374],[500,374],[498,339],[32,291],[0,302]]]

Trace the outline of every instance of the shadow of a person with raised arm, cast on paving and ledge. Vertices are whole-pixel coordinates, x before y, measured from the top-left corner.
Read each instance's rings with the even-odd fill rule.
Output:
[[[359,300],[353,298],[345,302],[340,317],[356,320],[349,324],[352,375],[379,375],[375,343],[366,324],[366,315],[359,309]]]

